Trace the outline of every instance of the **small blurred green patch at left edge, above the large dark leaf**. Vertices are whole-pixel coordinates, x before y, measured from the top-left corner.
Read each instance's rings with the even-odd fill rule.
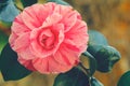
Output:
[[[0,54],[6,43],[8,43],[8,35],[0,30]]]

